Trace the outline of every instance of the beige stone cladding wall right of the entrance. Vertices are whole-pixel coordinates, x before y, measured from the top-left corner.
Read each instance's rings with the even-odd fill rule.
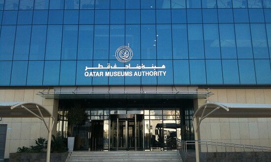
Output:
[[[208,97],[209,102],[271,104],[270,87],[198,89],[204,90],[214,93]],[[198,106],[204,103],[205,99],[197,100]],[[271,146],[271,118],[205,118],[200,126],[200,139]],[[202,147],[202,151],[206,151],[206,147]],[[215,146],[208,147],[208,151],[215,151]],[[218,147],[218,151],[225,151],[225,148]]]

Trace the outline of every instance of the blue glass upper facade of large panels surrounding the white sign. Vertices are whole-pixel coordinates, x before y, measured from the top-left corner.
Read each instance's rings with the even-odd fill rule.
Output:
[[[84,76],[108,63],[167,74]],[[0,86],[271,84],[271,0],[0,0],[0,74]]]

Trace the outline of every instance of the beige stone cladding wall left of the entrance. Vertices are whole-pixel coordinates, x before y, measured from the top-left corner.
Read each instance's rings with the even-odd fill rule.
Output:
[[[43,89],[0,89],[0,102],[35,102],[47,108],[57,119],[58,100],[44,99],[36,93]],[[53,89],[52,89],[53,90]],[[46,122],[48,123],[48,119]],[[47,137],[47,129],[38,118],[2,118],[0,124],[7,124],[5,156],[17,151],[18,147],[35,145],[38,137]],[[56,124],[53,134],[56,134]]]

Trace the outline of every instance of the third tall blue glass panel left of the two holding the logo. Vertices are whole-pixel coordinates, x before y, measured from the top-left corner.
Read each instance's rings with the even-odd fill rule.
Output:
[[[78,26],[64,26],[61,59],[76,59]]]

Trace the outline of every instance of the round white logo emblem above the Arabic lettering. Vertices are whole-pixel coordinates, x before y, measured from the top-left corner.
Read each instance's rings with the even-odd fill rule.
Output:
[[[120,62],[129,62],[133,57],[133,51],[128,46],[121,46],[116,50],[115,56]]]

